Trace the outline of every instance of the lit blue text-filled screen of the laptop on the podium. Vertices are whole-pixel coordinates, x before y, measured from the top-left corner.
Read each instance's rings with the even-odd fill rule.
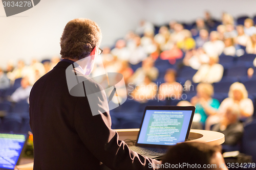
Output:
[[[184,142],[192,110],[146,110],[137,143],[174,145]]]

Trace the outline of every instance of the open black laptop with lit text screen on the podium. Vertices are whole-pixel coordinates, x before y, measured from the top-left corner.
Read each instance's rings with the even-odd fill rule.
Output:
[[[194,106],[147,106],[130,149],[149,158],[163,156],[171,145],[188,139],[194,114]]]

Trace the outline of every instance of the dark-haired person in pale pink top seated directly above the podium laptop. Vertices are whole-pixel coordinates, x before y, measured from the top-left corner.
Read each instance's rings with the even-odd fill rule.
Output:
[[[158,96],[160,100],[165,98],[181,99],[183,87],[180,83],[176,82],[177,72],[169,68],[164,76],[165,83],[160,84]]]

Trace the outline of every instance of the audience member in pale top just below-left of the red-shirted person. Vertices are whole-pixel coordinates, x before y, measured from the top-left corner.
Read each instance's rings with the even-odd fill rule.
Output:
[[[138,85],[143,82],[145,75],[149,75],[154,81],[158,77],[158,69],[154,67],[154,60],[150,57],[142,61],[142,67],[136,69],[133,76],[129,79],[130,83]]]

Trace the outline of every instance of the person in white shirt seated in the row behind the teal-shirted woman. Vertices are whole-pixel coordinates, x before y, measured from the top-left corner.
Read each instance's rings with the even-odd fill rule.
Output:
[[[210,57],[209,64],[200,66],[196,74],[193,76],[195,83],[216,83],[221,81],[224,68],[218,64],[219,57]]]

